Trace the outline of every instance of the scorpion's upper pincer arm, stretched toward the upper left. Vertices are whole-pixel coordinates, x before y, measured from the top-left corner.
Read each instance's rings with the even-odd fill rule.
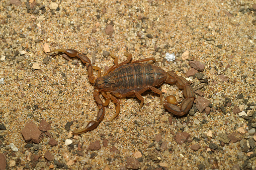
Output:
[[[89,81],[91,83],[94,83],[95,77],[93,76],[93,66],[92,66],[91,60],[86,55],[83,55],[78,51],[75,51],[72,49],[56,49],[56,50],[53,50],[52,52],[62,52],[68,55],[69,57],[78,57],[83,63],[86,64],[88,68]]]

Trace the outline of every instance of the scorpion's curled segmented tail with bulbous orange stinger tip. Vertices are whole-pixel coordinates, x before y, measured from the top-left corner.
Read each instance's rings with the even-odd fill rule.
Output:
[[[169,96],[169,97],[166,97],[163,105],[165,109],[168,110],[169,112],[178,116],[183,116],[187,114],[191,109],[191,107],[193,106],[195,93],[191,85],[185,78],[178,76],[174,72],[167,72],[167,75],[168,75],[168,78],[166,79],[166,83],[169,83],[169,84],[176,83],[179,89],[184,89],[183,91],[184,100],[181,102],[180,106],[177,106],[177,104],[179,103],[176,101],[176,98],[174,96]]]

